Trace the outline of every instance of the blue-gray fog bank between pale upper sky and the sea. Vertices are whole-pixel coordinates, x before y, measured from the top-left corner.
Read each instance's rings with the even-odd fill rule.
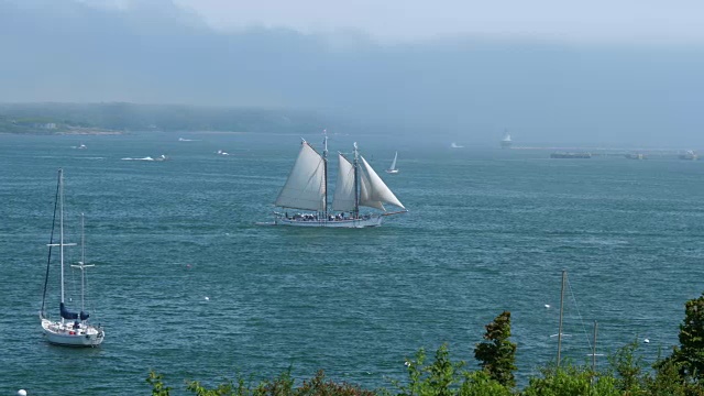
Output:
[[[0,0],[0,101],[316,108],[491,143],[703,144],[701,47],[211,30],[173,2]]]

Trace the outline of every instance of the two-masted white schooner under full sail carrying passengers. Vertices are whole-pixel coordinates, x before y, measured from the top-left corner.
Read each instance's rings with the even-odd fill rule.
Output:
[[[352,161],[338,154],[339,167],[332,206],[328,206],[328,136],[322,154],[305,140],[286,184],[276,198],[276,226],[364,228],[381,226],[391,215],[407,212],[398,198],[384,184],[372,166],[359,154],[356,143]],[[402,210],[388,212],[384,205]],[[361,213],[360,207],[381,212]],[[307,210],[289,216],[288,209]]]

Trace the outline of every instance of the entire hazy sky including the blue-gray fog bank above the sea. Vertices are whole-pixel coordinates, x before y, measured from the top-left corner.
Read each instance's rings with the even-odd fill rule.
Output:
[[[468,142],[508,129],[525,144],[704,147],[702,15],[688,0],[0,0],[0,101],[306,108]]]

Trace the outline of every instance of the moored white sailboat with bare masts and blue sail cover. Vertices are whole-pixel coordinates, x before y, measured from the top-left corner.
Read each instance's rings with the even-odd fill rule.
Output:
[[[64,174],[62,169],[58,169],[58,186],[56,190],[56,204],[54,205],[54,221],[56,223],[56,212],[58,209],[58,243],[54,243],[54,229],[52,229],[52,237],[48,243],[48,260],[46,263],[46,278],[44,280],[44,294],[42,297],[42,310],[40,311],[40,319],[42,321],[42,329],[46,340],[53,344],[64,346],[98,346],[102,343],[106,332],[100,326],[94,326],[89,322],[89,314],[86,312],[85,307],[85,285],[86,285],[86,268],[92,265],[86,265],[85,258],[85,233],[82,232],[82,217],[81,217],[81,261],[77,265],[72,265],[80,270],[80,312],[72,312],[68,310],[65,304],[65,288],[64,288],[64,248],[74,246],[75,243],[64,242]],[[54,226],[52,226],[54,227]],[[58,305],[59,319],[52,319],[46,315],[47,302],[47,285],[50,282],[51,265],[52,265],[52,248],[58,246],[59,249],[59,263],[61,263],[61,302]]]

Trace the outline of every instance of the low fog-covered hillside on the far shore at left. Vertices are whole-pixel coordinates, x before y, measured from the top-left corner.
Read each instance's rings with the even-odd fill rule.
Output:
[[[90,133],[124,131],[310,132],[339,120],[315,112],[134,103],[0,105],[0,132]]]

